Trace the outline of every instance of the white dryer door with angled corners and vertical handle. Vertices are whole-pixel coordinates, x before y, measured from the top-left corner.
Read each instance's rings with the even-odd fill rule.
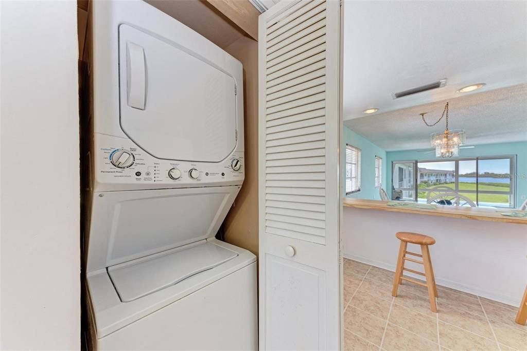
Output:
[[[120,122],[154,157],[220,162],[236,146],[236,82],[177,43],[119,26]]]

